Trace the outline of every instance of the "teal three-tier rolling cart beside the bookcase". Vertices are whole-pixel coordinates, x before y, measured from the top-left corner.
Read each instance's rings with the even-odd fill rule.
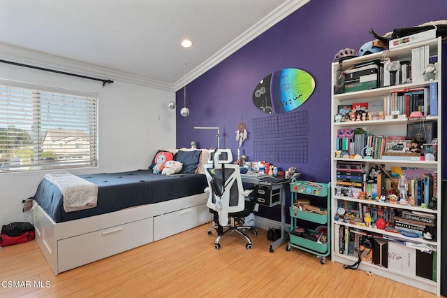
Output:
[[[287,251],[298,248],[325,264],[330,255],[330,183],[291,180],[291,230]]]

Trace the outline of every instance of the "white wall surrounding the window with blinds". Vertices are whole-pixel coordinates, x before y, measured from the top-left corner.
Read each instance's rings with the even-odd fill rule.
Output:
[[[70,71],[67,69],[66,71]],[[0,63],[0,78],[96,92],[98,100],[98,168],[73,169],[75,174],[147,169],[159,148],[175,148],[175,111],[168,108],[175,92],[111,80],[106,84],[84,78]],[[22,199],[32,197],[47,171],[0,172],[0,225],[30,221]]]

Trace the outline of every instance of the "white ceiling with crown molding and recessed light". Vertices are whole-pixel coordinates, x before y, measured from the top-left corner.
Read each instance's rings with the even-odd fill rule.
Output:
[[[308,1],[0,0],[1,52],[178,90]]]

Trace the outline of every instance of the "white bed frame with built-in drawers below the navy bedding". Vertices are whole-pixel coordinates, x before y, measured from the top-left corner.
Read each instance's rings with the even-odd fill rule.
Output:
[[[207,193],[56,223],[34,202],[36,241],[54,275],[210,222]]]

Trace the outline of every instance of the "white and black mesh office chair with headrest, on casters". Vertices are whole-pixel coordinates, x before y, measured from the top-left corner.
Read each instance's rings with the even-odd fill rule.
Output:
[[[212,229],[217,229],[217,239],[214,241],[216,249],[221,247],[221,236],[230,231],[244,236],[247,240],[246,248],[251,249],[251,239],[244,230],[250,229],[255,235],[258,231],[251,222],[244,222],[244,218],[258,211],[258,204],[248,199],[253,190],[244,190],[240,167],[231,164],[232,161],[229,149],[217,149],[210,152],[208,164],[204,165],[209,185],[207,190],[210,193],[207,206],[214,219],[208,234],[212,234]]]

